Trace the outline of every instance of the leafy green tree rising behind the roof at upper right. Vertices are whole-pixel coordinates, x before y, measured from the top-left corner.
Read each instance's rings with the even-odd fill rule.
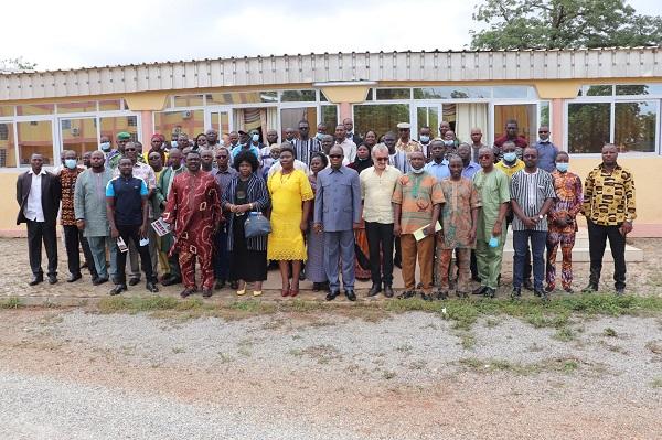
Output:
[[[662,44],[662,18],[637,14],[626,0],[485,0],[473,20],[476,50],[577,49]]]

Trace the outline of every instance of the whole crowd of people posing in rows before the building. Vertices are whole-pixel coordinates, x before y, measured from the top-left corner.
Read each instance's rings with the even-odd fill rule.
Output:
[[[586,178],[568,170],[569,155],[538,129],[535,144],[509,120],[492,146],[482,132],[457,139],[442,121],[439,137],[423,127],[410,138],[407,122],[397,135],[360,137],[351,119],[333,135],[301,120],[279,143],[269,130],[231,132],[227,144],[214,130],[193,144],[179,133],[166,142],[154,133],[147,151],[129,133],[108,138],[84,154],[62,152],[62,167],[46,172],[40,154],[20,175],[18,223],[26,223],[30,285],[57,282],[56,218],[64,232],[70,277],[82,278],[79,248],[93,285],[113,280],[110,294],[140,282],[158,291],[183,283],[181,297],[203,297],[226,283],[238,296],[253,286],[261,294],[269,262],[277,265],[282,297],[299,293],[309,279],[327,300],[341,292],[354,301],[355,279],[370,278],[367,292],[394,296],[394,266],[402,267],[398,298],[420,293],[446,299],[470,292],[493,298],[501,278],[508,227],[513,229],[513,290],[548,299],[556,289],[556,254],[563,255],[560,285],[573,291],[572,250],[577,215],[588,224],[590,277],[598,289],[606,240],[615,261],[615,288],[626,287],[624,244],[636,218],[631,173],[617,162],[612,144]],[[269,227],[256,232],[256,225]],[[455,254],[455,265],[453,261]],[[129,261],[127,262],[127,255]],[[109,257],[109,258],[107,258]],[[546,261],[546,262],[545,262]],[[140,265],[139,265],[140,264]],[[419,279],[416,282],[418,264]],[[200,283],[195,276],[200,267]],[[159,270],[161,277],[158,277]],[[533,281],[531,277],[533,276]],[[470,280],[480,285],[470,288]]]

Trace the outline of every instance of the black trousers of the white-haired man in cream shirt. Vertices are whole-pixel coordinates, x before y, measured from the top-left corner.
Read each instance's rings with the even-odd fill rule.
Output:
[[[365,222],[370,273],[374,285],[393,285],[393,223]]]

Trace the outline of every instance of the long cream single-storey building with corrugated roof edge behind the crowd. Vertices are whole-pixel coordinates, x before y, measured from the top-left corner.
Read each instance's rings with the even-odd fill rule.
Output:
[[[636,178],[637,229],[662,236],[654,195],[661,100],[658,47],[310,54],[2,74],[0,203],[15,205],[15,179],[32,153],[57,164],[63,150],[82,154],[119,131],[148,148],[153,132],[276,129],[282,139],[300,119],[332,132],[349,117],[356,132],[377,136],[407,121],[416,138],[424,126],[438,133],[446,120],[461,140],[478,127],[491,144],[515,119],[530,142],[549,126],[581,176],[605,142],[616,143]],[[13,211],[0,215],[4,235],[21,232]]]

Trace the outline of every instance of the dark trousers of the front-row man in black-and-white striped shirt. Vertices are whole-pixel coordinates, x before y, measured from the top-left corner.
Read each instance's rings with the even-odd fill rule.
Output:
[[[526,265],[526,250],[531,239],[531,253],[533,255],[533,288],[543,289],[543,279],[545,277],[545,246],[547,243],[546,230],[513,230],[513,288],[521,289],[524,281],[524,271]]]

